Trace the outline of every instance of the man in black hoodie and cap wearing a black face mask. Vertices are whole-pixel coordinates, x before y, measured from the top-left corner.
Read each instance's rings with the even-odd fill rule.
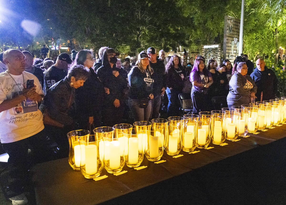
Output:
[[[104,87],[110,91],[109,98],[104,102],[102,110],[102,122],[104,126],[114,126],[122,123],[124,110],[124,91],[126,91],[127,80],[119,75],[116,68],[117,55],[113,48],[107,48],[102,53],[102,66],[96,70]]]

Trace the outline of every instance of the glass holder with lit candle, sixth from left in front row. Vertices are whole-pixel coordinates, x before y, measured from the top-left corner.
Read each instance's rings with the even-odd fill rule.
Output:
[[[182,150],[192,152],[196,148],[196,132],[198,130],[198,121],[193,119],[182,120]]]

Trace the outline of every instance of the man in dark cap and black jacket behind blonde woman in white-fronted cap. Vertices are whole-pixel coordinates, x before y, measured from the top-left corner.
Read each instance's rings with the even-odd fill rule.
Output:
[[[148,48],[147,54],[150,58],[150,67],[154,70],[154,73],[151,75],[151,78],[154,80],[152,91],[154,98],[151,100],[152,108],[150,115],[150,120],[152,120],[159,117],[161,96],[165,93],[166,89],[165,66],[163,61],[156,58],[157,52],[155,48]]]

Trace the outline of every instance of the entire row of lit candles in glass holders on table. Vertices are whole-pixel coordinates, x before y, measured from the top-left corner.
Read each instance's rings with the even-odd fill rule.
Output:
[[[164,150],[171,156],[181,150],[192,152],[196,147],[207,148],[211,141],[222,144],[226,139],[236,140],[248,132],[255,133],[285,121],[286,99],[277,98],[183,118],[95,128],[94,135],[88,130],[75,130],[67,134],[69,164],[74,170],[81,170],[86,178],[95,178],[103,168],[108,173],[118,173],[124,164],[138,167],[144,155],[150,161],[158,161]]]

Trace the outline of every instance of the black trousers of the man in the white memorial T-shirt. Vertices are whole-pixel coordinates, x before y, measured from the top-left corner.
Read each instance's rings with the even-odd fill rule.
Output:
[[[16,142],[3,143],[2,147],[9,155],[7,167],[7,197],[11,198],[23,193],[23,188],[29,184],[28,169],[30,164],[51,160],[51,154],[46,147],[44,130]],[[31,149],[28,158],[28,148]],[[3,173],[6,174],[6,173]],[[3,176],[2,176],[3,177]]]

